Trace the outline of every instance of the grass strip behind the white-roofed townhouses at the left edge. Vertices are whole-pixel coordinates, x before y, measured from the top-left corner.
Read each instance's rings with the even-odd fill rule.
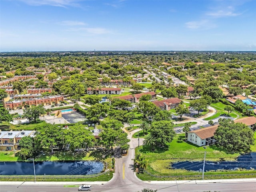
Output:
[[[0,129],[2,130],[35,130],[38,127],[44,126],[45,121],[37,121],[37,123],[31,122],[26,124],[14,125],[8,122],[2,122]]]

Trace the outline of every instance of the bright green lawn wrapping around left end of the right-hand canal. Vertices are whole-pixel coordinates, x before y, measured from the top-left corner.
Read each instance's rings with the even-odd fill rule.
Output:
[[[174,137],[174,140],[166,148],[159,147],[152,151],[150,146],[140,146],[136,148],[136,153],[140,152],[149,160],[147,170],[154,174],[181,174],[188,173],[187,170],[170,169],[171,162],[178,161],[198,161],[203,160],[206,151],[206,160],[234,160],[238,153],[228,153],[215,145],[207,146],[206,149],[184,142],[184,134]]]

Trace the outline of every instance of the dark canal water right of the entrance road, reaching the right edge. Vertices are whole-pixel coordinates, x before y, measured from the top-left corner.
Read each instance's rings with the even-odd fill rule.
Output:
[[[206,154],[207,156],[207,154]],[[186,170],[193,170],[193,171],[201,171],[203,169],[203,162],[177,162],[172,164],[172,168],[176,169],[186,169]],[[219,162],[212,162],[206,161],[205,162],[205,171],[209,170],[237,170],[238,168],[243,169],[256,169],[256,153],[248,153],[240,155],[237,158],[237,161],[219,161]]]

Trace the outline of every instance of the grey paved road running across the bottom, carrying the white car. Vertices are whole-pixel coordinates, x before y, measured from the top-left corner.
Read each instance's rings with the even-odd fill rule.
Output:
[[[58,185],[1,185],[1,192],[77,192],[78,187],[64,187]],[[194,180],[171,184],[148,184],[136,182],[130,184],[111,182],[104,185],[93,185],[93,192],[136,192],[143,188],[158,189],[159,192],[255,192],[256,182],[217,182],[217,183],[196,183]]]

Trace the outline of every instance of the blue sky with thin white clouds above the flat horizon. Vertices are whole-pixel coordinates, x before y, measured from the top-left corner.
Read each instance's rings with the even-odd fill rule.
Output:
[[[256,51],[256,0],[0,0],[0,51]]]

